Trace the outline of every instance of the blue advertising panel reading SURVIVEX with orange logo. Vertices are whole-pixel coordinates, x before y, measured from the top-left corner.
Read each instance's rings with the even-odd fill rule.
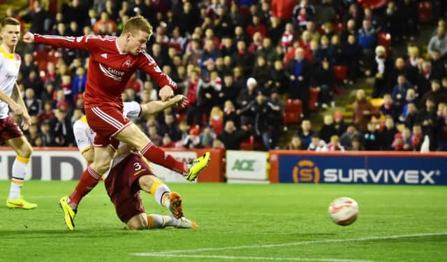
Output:
[[[447,184],[446,157],[278,157],[280,183]]]

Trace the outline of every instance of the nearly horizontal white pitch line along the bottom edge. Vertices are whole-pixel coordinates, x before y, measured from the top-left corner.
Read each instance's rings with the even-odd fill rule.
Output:
[[[137,253],[141,254],[141,253]],[[136,255],[143,256],[143,255]],[[144,255],[147,256],[147,255]],[[214,256],[214,255],[176,255],[176,254],[151,254],[153,257],[166,258],[193,258],[193,259],[227,259],[227,260],[270,260],[270,261],[323,261],[323,262],[379,262],[372,260],[357,260],[357,259],[305,259],[305,258],[281,258],[281,257],[265,257],[265,256]]]

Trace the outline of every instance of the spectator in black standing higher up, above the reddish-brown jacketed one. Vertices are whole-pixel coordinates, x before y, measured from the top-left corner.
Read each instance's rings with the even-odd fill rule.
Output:
[[[358,78],[360,62],[362,59],[362,47],[357,43],[355,35],[349,35],[348,41],[342,48],[342,55],[348,68],[346,82],[352,85]]]

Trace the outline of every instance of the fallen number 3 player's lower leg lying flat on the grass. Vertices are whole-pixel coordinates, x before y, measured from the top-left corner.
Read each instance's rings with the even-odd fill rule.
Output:
[[[165,228],[166,226],[174,226],[177,228],[198,228],[196,222],[186,219],[185,217],[176,219],[175,217],[163,216],[161,214],[147,215],[145,213],[135,215],[129,219],[126,224],[129,229],[133,230]]]

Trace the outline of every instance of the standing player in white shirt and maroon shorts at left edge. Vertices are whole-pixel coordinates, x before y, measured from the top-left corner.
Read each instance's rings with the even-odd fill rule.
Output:
[[[20,56],[15,53],[15,46],[20,39],[20,22],[12,17],[1,20],[0,31],[0,144],[3,142],[13,148],[15,157],[12,170],[11,187],[6,206],[8,208],[33,209],[37,205],[24,200],[20,194],[23,180],[27,175],[28,163],[33,152],[27,138],[9,116],[9,107],[15,115],[22,116],[22,129],[27,130],[31,124],[27,107],[17,86],[20,69]]]

